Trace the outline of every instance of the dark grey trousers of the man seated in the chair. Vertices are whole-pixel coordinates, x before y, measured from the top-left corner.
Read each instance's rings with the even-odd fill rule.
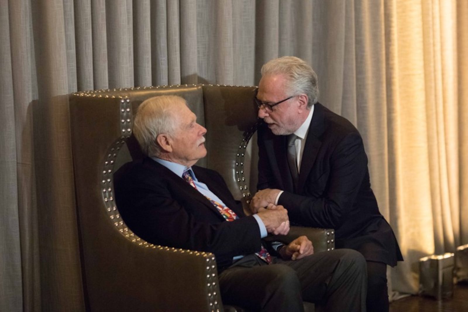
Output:
[[[271,265],[248,255],[219,275],[219,287],[224,304],[252,311],[303,311],[303,301],[325,311],[366,311],[366,260],[351,249]]]

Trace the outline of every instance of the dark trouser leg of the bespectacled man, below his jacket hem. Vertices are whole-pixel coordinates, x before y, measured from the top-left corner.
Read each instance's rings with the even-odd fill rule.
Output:
[[[367,261],[367,312],[388,312],[387,265]]]

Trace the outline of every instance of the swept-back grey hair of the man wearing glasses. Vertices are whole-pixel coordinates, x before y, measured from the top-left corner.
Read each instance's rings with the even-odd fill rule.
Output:
[[[262,66],[262,76],[268,74],[284,74],[288,78],[286,88],[291,92],[290,96],[300,93],[307,94],[307,107],[317,103],[319,87],[317,74],[304,60],[295,56],[283,56],[272,59]]]

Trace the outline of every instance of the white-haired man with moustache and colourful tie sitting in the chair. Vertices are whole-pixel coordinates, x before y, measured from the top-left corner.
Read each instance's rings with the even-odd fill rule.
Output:
[[[206,155],[206,129],[185,100],[152,97],[138,108],[133,133],[146,158],[115,174],[116,200],[129,228],[157,244],[216,256],[224,304],[254,311],[366,310],[366,261],[350,249],[314,254],[305,237],[263,241],[289,231],[287,211],[270,205],[246,216]],[[155,281],[156,282],[156,281]]]

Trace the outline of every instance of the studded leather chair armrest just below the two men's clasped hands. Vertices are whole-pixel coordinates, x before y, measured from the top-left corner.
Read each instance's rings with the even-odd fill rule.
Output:
[[[266,238],[268,241],[280,241],[290,243],[300,236],[307,236],[314,245],[314,253],[335,249],[335,230],[319,229],[305,226],[291,226],[287,235],[272,235]]]

